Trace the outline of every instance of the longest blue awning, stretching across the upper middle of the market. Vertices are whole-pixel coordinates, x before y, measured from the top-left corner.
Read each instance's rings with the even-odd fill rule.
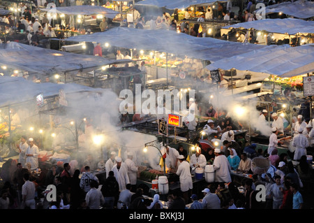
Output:
[[[211,62],[265,47],[264,45],[223,41],[210,37],[197,38],[165,29],[133,29],[126,27],[117,27],[89,35],[71,36],[67,40],[77,42],[95,41],[109,43],[119,48],[155,50]]]

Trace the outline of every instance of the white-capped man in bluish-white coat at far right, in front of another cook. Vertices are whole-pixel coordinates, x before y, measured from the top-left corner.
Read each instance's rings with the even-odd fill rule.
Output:
[[[308,138],[303,134],[304,128],[299,127],[299,134],[297,136],[294,136],[292,139],[292,146],[295,147],[294,150],[294,156],[293,159],[295,161],[299,161],[301,159],[301,156],[306,155],[306,148],[310,146],[310,143],[308,143]]]

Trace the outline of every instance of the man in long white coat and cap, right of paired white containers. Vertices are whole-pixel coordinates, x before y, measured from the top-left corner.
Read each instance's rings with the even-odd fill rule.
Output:
[[[190,164],[186,161],[184,155],[178,157],[180,165],[178,166],[176,174],[179,175],[180,189],[183,194],[184,201],[188,203],[188,198],[191,195],[191,189],[193,189],[192,175],[190,174]]]

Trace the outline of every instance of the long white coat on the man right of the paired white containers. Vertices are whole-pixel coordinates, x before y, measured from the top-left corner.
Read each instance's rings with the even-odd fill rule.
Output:
[[[179,175],[181,192],[193,189],[192,175],[190,174],[190,164],[184,160],[178,167],[177,175]]]

